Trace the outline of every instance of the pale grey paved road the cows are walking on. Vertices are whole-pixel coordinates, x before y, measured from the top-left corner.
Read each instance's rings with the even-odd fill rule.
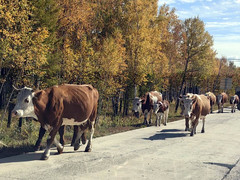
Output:
[[[184,131],[184,121],[96,138],[93,152],[85,147],[61,155],[41,151],[0,159],[0,179],[157,179],[239,180],[240,112],[211,114],[206,133]]]

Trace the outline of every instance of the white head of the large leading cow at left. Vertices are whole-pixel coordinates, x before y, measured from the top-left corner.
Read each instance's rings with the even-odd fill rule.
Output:
[[[18,117],[36,117],[32,99],[34,92],[31,88],[24,87],[20,89],[17,95],[17,102],[12,110],[12,116]]]

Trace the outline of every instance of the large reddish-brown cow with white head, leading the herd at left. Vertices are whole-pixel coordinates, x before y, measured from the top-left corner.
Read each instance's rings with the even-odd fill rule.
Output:
[[[64,84],[39,91],[25,87],[19,92],[12,113],[18,117],[34,117],[44,129],[50,131],[47,147],[41,157],[46,160],[49,158],[52,143],[56,145],[59,153],[63,151],[63,146],[55,137],[62,125],[81,125],[74,150],[80,146],[82,133],[89,129],[90,136],[85,151],[92,150],[98,99],[98,91],[91,85]]]

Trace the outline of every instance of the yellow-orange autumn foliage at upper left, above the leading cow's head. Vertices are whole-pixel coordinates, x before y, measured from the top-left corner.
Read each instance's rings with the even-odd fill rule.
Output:
[[[0,56],[1,66],[18,74],[21,84],[30,85],[34,76],[42,77],[48,47],[48,31],[33,30],[32,6],[27,0],[1,1]]]

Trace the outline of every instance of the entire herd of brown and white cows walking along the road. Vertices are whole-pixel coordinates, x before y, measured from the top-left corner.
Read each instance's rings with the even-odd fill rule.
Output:
[[[36,142],[36,149],[39,149],[42,137],[48,130],[49,136],[47,146],[41,159],[46,160],[50,156],[50,147],[55,144],[58,153],[63,152],[64,147],[64,126],[73,125],[74,135],[72,145],[74,150],[78,150],[81,143],[85,143],[85,132],[90,131],[86,152],[92,150],[92,138],[97,117],[97,104],[99,94],[97,89],[91,85],[70,85],[64,84],[53,86],[45,90],[34,91],[24,87],[19,91],[16,105],[12,111],[12,116],[33,117],[41,124],[39,138]],[[217,97],[209,92],[204,95],[188,93],[180,98],[181,114],[185,116],[186,129],[189,128],[189,120],[192,122],[191,136],[196,133],[198,121],[203,120],[202,133],[204,132],[205,117],[212,112],[212,106],[218,104],[219,112],[223,112],[223,104],[228,101],[226,93],[221,93]],[[230,98],[232,112],[235,112],[239,103],[237,95]],[[162,94],[157,91],[145,93],[141,98],[136,97],[133,101],[133,112],[139,117],[144,114],[144,124],[149,125],[152,113],[156,115],[156,126],[167,124],[169,113],[169,102],[164,100]],[[148,115],[150,118],[148,120]],[[60,134],[60,143],[56,139],[56,134]]]

